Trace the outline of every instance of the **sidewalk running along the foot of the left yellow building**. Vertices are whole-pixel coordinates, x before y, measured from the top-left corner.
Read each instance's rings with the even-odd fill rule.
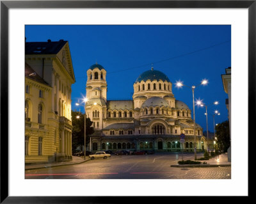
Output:
[[[86,156],[86,159],[84,160],[84,157],[74,157],[72,156],[72,161],[67,162],[57,162],[57,163],[45,163],[45,164],[25,164],[25,170],[31,170],[31,169],[41,169],[41,168],[51,168],[54,166],[66,166],[66,165],[72,165],[72,164],[81,164],[83,162],[89,161],[89,157]]]

